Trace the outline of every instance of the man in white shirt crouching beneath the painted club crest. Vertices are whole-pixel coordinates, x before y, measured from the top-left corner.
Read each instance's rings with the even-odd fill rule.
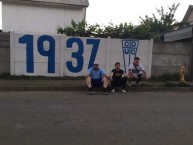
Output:
[[[134,80],[137,85],[142,79],[147,79],[145,69],[142,64],[139,63],[140,58],[135,57],[132,64],[129,65],[129,78],[130,81]]]

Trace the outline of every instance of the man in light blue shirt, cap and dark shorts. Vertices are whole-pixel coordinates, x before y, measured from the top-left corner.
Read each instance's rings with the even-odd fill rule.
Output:
[[[107,95],[108,76],[105,71],[99,67],[99,62],[95,61],[94,66],[88,69],[86,74],[86,84],[90,94],[94,94],[93,87],[103,86],[104,95]]]

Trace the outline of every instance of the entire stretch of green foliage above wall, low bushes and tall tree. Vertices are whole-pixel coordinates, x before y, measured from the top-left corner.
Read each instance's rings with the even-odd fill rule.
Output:
[[[67,36],[160,39],[164,32],[171,31],[180,25],[174,18],[179,5],[179,3],[173,4],[168,7],[168,11],[161,7],[156,9],[156,14],[153,13],[152,16],[140,17],[139,26],[134,26],[132,23],[114,25],[110,22],[108,26],[102,27],[99,24],[90,25],[86,21],[79,23],[72,21],[70,26],[58,27],[57,31]]]

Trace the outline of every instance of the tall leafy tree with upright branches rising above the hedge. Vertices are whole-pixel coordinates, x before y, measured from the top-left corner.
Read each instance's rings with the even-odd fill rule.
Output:
[[[136,28],[136,31],[140,29],[142,33],[149,33],[150,38],[159,39],[161,34],[172,31],[176,26],[180,25],[174,18],[179,5],[179,3],[174,3],[171,7],[168,7],[167,11],[161,7],[156,9],[157,15],[153,13],[152,16],[140,17],[140,26]]]

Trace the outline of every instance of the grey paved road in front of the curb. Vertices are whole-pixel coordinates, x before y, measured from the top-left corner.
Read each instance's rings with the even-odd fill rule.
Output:
[[[193,93],[0,92],[1,145],[192,145]]]

